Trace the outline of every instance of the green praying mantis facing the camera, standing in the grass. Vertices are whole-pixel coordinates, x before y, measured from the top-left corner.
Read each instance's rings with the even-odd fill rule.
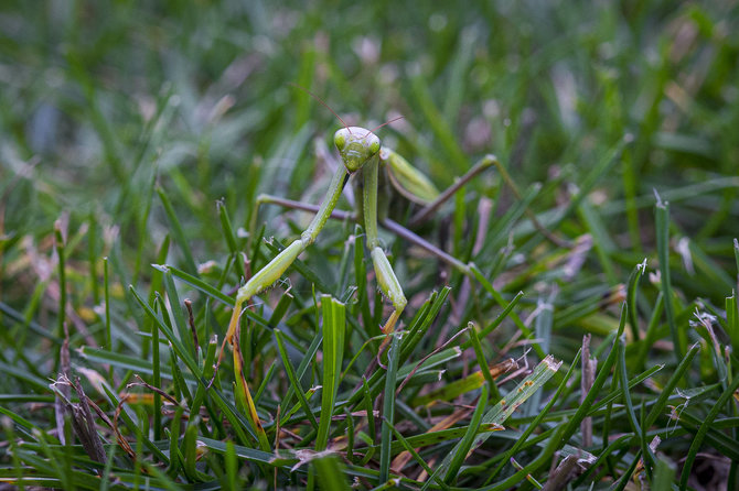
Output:
[[[298,87],[301,88],[302,87]],[[306,90],[306,89],[302,89]],[[387,298],[392,306],[393,313],[382,327],[382,332],[386,335],[385,340],[381,345],[379,352],[383,351],[387,345],[390,335],[395,330],[395,326],[403,314],[408,301],[404,294],[403,287],[398,282],[393,268],[382,248],[377,223],[378,223],[378,187],[381,186],[379,177],[381,170],[384,176],[392,183],[392,185],[406,198],[417,204],[424,205],[424,208],[415,216],[411,221],[422,221],[428,218],[433,210],[443,204],[453,193],[459,189],[464,183],[470,181],[485,168],[497,164],[493,155],[486,155],[474,167],[472,167],[464,176],[459,178],[456,184],[449,187],[443,193],[439,193],[429,178],[420,171],[411,166],[408,161],[400,156],[395,151],[383,146],[381,139],[374,133],[378,128],[389,124],[395,120],[388,121],[381,127],[373,130],[367,130],[361,127],[350,127],[344,120],[336,114],[325,102],[318,96],[306,90],[314,97],[320,103],[325,106],[343,124],[343,128],[338,130],[333,137],[333,143],[339,151],[343,165],[340,165],[331,179],[326,196],[318,209],[308,205],[301,205],[296,201],[289,201],[279,198],[260,197],[260,203],[271,201],[285,206],[293,206],[311,211],[315,211],[312,221],[300,234],[298,239],[292,241],[285,248],[275,259],[272,259],[266,266],[254,274],[247,282],[238,288],[236,294],[236,303],[228,323],[228,330],[226,332],[221,356],[223,356],[226,343],[229,343],[236,354],[237,346],[235,338],[238,336],[239,318],[244,304],[255,295],[269,288],[275,284],[282,274],[290,268],[290,265],[298,259],[298,257],[311,246],[324,225],[335,211],[336,203],[341,197],[344,186],[351,176],[363,179],[362,182],[362,199],[357,199],[357,214],[360,220],[364,221],[364,231],[366,246],[370,250],[377,285],[385,298]],[[398,118],[399,119],[399,118]],[[398,226],[389,219],[383,220],[384,225],[390,225],[395,231],[399,231],[406,238],[414,240],[416,243],[426,248],[431,253],[451,263],[465,274],[469,274],[468,265],[451,255],[440,251],[432,244],[424,241],[407,229]],[[221,357],[219,357],[221,358]],[[218,361],[219,363],[219,361]]]

